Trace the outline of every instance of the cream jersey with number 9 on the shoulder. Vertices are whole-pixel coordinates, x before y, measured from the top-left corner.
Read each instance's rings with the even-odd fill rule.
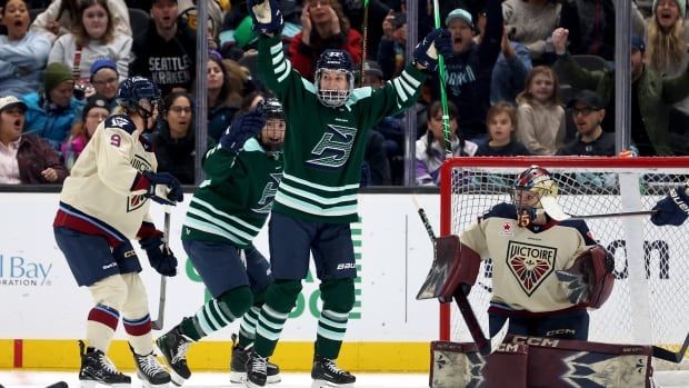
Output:
[[[156,171],[151,145],[133,121],[113,115],[101,122],[64,180],[53,226],[122,241],[156,232],[143,197],[142,171]]]

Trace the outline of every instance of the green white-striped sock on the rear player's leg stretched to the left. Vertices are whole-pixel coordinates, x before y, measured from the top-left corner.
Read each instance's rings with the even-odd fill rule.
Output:
[[[249,286],[241,286],[210,299],[191,318],[182,320],[182,334],[194,341],[222,329],[247,312],[253,301]]]

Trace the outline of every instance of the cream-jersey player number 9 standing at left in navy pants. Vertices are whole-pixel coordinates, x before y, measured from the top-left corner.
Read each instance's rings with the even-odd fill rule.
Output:
[[[151,320],[141,265],[130,239],[139,239],[149,262],[163,276],[177,273],[177,259],[148,216],[149,199],[174,205],[182,190],[174,177],[156,172],[156,156],[141,136],[154,127],[160,90],[133,77],[118,90],[116,115],[108,117],[64,181],[53,228],[58,246],[94,307],[87,320],[87,345],[79,341],[83,386],[129,387],[106,356],[120,315],[144,386],[167,387],[170,375],[153,356]]]

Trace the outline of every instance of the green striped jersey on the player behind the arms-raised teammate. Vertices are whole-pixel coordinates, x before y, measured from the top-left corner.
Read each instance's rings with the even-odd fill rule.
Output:
[[[281,153],[266,153],[254,138],[237,157],[217,146],[206,153],[203,171],[208,179],[191,198],[182,240],[248,247],[270,213],[282,178]]]

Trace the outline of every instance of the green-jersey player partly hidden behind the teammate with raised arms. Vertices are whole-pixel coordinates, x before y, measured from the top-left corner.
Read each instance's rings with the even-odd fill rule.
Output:
[[[272,281],[268,260],[251,240],[268,218],[282,177],[284,129],[280,103],[269,99],[237,118],[206,153],[208,180],[189,205],[182,245],[213,298],[156,341],[177,385],[191,376],[189,346],[247,314],[239,344],[232,348],[231,380],[241,382],[244,375],[257,314]],[[276,365],[267,366],[271,382],[280,380],[279,372]]]

